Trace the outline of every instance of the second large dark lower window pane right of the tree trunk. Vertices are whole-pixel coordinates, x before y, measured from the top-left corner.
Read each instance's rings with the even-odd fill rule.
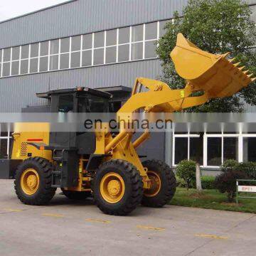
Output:
[[[238,161],[238,138],[223,138],[223,161],[228,159]]]

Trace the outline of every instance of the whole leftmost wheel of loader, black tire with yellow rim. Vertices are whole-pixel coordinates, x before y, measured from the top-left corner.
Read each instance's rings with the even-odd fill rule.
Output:
[[[31,157],[18,166],[14,188],[21,202],[41,206],[54,196],[51,187],[52,164],[41,157]]]

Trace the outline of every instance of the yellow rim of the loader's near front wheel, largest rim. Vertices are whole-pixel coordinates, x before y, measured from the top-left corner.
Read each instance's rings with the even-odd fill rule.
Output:
[[[100,194],[107,203],[117,203],[124,196],[124,180],[114,172],[105,174],[100,181]]]

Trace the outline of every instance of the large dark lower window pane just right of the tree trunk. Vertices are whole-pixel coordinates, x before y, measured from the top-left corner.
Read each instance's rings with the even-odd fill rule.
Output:
[[[221,164],[221,138],[208,138],[207,165],[220,166]]]

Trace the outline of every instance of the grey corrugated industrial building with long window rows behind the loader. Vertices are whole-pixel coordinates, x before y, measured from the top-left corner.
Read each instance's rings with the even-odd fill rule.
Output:
[[[47,105],[37,92],[68,87],[132,87],[134,79],[157,79],[156,41],[186,0],[74,0],[0,23],[0,111]],[[256,21],[256,0],[248,1]],[[127,89],[125,89],[127,92]],[[128,90],[129,91],[129,90]],[[1,157],[9,157],[11,131],[1,132]],[[255,134],[158,133],[146,145],[150,158],[175,166],[193,159],[216,169],[225,159],[256,161]]]

